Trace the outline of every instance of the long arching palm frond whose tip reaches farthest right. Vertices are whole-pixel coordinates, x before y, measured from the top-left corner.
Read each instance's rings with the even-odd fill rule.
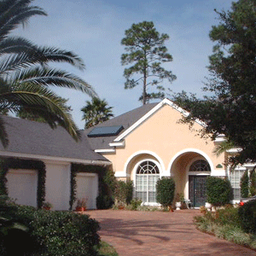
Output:
[[[62,70],[48,67],[31,67],[13,72],[7,79],[8,84],[42,84],[44,86],[58,86],[69,89],[81,90],[82,92],[96,96],[92,86],[83,79]]]

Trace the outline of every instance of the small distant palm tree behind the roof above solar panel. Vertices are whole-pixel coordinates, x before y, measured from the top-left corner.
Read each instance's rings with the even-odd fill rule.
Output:
[[[85,120],[84,128],[88,129],[113,117],[113,107],[107,108],[107,106],[108,102],[97,97],[93,97],[91,102],[87,101],[86,106],[81,108],[81,111],[84,112],[82,119]]]

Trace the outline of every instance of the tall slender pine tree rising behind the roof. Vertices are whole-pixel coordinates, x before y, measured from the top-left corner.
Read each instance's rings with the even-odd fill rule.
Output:
[[[165,88],[160,85],[164,79],[172,82],[176,76],[171,71],[161,67],[161,63],[172,61],[172,55],[167,53],[164,45],[169,38],[167,34],[160,34],[154,28],[152,21],[132,24],[125,31],[125,38],[121,44],[125,45],[126,54],[121,56],[122,65],[133,64],[125,68],[125,89],[132,89],[143,81],[143,104],[149,99],[163,98]],[[134,79],[131,79],[131,77]],[[158,92],[148,93],[148,87],[154,85]]]

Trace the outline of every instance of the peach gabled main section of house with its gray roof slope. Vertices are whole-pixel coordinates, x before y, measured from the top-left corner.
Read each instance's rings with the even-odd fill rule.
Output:
[[[218,142],[198,135],[204,125],[200,121],[193,130],[181,124],[184,114],[182,108],[165,99],[110,119],[91,128],[87,135],[95,152],[112,163],[115,177],[133,181],[134,196],[144,203],[156,204],[155,183],[159,177],[173,177],[176,192],[200,207],[206,201],[206,177],[224,177],[227,170],[224,154],[217,157],[212,153]],[[104,134],[111,127],[123,130],[115,136]]]

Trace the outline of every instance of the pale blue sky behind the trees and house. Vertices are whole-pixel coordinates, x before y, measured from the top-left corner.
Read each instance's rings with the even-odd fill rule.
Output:
[[[38,45],[55,46],[72,50],[85,62],[86,70],[80,72],[68,65],[61,65],[91,84],[97,94],[113,107],[119,115],[141,106],[138,97],[142,86],[125,90],[124,66],[120,56],[125,53],[120,44],[125,30],[132,23],[153,21],[160,33],[170,39],[166,47],[173,57],[166,69],[172,70],[177,79],[166,84],[173,91],[185,90],[202,96],[201,87],[208,76],[208,56],[212,46],[208,34],[212,25],[218,24],[214,9],[228,10],[231,0],[179,0],[179,1],[121,1],[121,0],[36,0],[48,16],[33,17],[25,29],[16,34]],[[138,85],[139,86],[139,85]],[[80,109],[90,97],[79,91],[56,89],[68,98],[73,108],[73,119],[84,128]]]

